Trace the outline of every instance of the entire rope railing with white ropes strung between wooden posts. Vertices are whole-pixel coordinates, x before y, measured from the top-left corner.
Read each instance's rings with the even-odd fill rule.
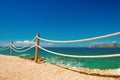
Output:
[[[17,47],[13,44],[13,42],[10,43],[10,47],[7,48],[0,48],[0,51],[2,50],[7,50],[10,48],[10,54],[12,55],[12,50],[15,52],[25,52],[28,51],[30,49],[32,49],[33,47],[36,47],[36,52],[35,52],[35,62],[38,62],[38,53],[39,53],[39,49],[55,54],[55,55],[59,55],[59,56],[66,56],[66,57],[74,57],[74,58],[106,58],[106,57],[120,57],[120,54],[107,54],[107,55],[92,55],[92,56],[83,56],[83,55],[70,55],[70,54],[63,54],[63,53],[59,53],[59,52],[54,52],[48,49],[45,49],[41,46],[39,46],[39,40],[43,40],[43,41],[47,41],[47,42],[55,42],[55,43],[72,43],[72,42],[85,42],[85,41],[92,41],[92,40],[98,40],[98,39],[102,39],[102,38],[108,38],[108,37],[112,37],[112,36],[117,36],[120,35],[120,32],[116,32],[116,33],[112,33],[112,34],[108,34],[108,35],[103,35],[103,36],[98,36],[98,37],[93,37],[93,38],[87,38],[87,39],[80,39],[80,40],[49,40],[49,39],[44,39],[41,38],[40,35],[38,34],[33,40],[31,40],[30,42],[28,42],[27,44],[25,44],[23,47]],[[34,40],[36,39],[36,43],[34,42]],[[32,44],[32,45],[30,45]],[[29,46],[30,45],[30,46]],[[29,46],[29,47],[27,47]]]

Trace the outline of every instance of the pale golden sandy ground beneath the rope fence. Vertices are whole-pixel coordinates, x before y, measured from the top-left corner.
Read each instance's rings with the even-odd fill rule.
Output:
[[[120,80],[120,69],[92,70],[0,55],[0,80]]]

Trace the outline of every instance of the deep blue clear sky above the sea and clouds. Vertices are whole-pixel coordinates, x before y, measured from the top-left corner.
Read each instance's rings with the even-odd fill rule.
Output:
[[[119,0],[0,0],[0,41],[31,40],[37,33],[83,39],[119,31]]]

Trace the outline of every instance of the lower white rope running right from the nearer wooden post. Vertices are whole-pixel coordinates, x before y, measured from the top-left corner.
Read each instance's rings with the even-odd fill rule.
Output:
[[[110,54],[110,55],[95,55],[95,56],[78,56],[78,55],[69,55],[69,54],[62,54],[62,53],[57,53],[57,52],[53,52],[50,50],[47,50],[41,46],[38,46],[40,49],[55,54],[55,55],[59,55],[59,56],[66,56],[66,57],[74,57],[74,58],[106,58],[106,57],[118,57],[120,56],[120,54]]]

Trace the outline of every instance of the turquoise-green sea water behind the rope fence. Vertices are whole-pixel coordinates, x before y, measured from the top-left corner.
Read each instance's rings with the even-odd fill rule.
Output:
[[[106,55],[106,54],[118,54],[120,48],[47,48],[48,50],[61,52],[72,55]],[[9,55],[9,50],[0,51],[0,54]],[[16,53],[13,52],[14,56],[34,56],[35,48],[24,52]],[[94,69],[117,69],[120,68],[120,57],[113,58],[70,58],[57,56],[45,51],[39,50],[39,57],[45,57],[46,62],[54,64],[63,64],[67,66],[76,66],[84,68]]]

